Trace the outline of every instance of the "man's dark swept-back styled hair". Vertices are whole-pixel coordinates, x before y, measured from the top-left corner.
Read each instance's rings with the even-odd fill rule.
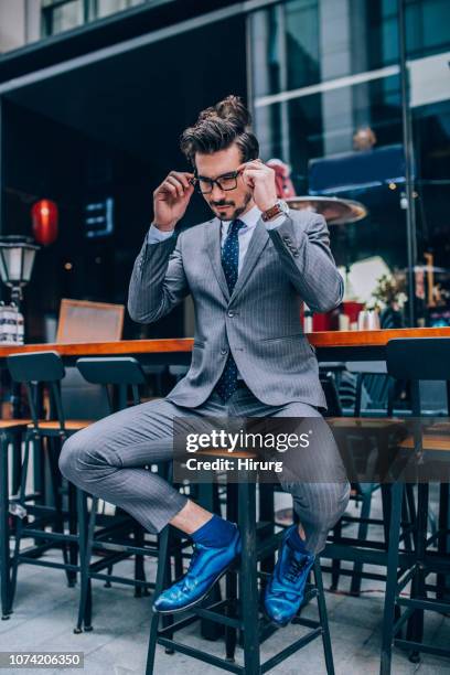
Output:
[[[251,132],[251,116],[238,96],[227,96],[199,115],[180,139],[181,151],[195,168],[195,153],[212,154],[236,143],[242,161],[259,157],[259,143]]]

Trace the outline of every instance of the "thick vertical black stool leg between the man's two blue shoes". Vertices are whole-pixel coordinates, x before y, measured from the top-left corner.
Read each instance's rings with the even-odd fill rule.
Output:
[[[246,480],[243,476],[243,480]],[[239,483],[239,528],[243,540],[239,597],[244,622],[244,665],[246,675],[259,675],[258,580],[256,564],[255,483]]]

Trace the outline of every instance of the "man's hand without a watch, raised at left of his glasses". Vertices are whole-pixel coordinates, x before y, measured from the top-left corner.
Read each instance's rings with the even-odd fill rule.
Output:
[[[189,182],[193,173],[171,171],[153,192],[153,225],[162,232],[172,231],[183,217],[194,186]]]

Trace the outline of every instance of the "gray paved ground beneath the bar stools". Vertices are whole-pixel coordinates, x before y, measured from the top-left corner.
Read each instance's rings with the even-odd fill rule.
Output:
[[[126,561],[115,571],[131,572]],[[154,577],[154,562],[147,564],[148,578]],[[329,578],[325,575],[325,587]],[[342,591],[349,588],[349,579],[343,578]],[[381,623],[383,615],[383,585],[363,582],[360,598],[344,593],[326,592],[335,671],[339,675],[372,675],[379,668]],[[85,669],[67,669],[66,673],[86,675],[127,675],[143,674],[150,617],[150,599],[136,599],[132,589],[114,585],[104,588],[101,581],[94,582],[94,628],[92,633],[75,635],[78,590],[67,588],[65,577],[60,570],[22,566],[19,570],[19,587],[15,610],[9,621],[0,622],[0,651],[83,651]],[[315,615],[312,603],[304,615]],[[279,630],[262,647],[267,657],[282,649],[294,636],[301,634],[300,626]],[[450,644],[450,618],[428,614],[427,636],[436,645]],[[179,633],[191,645],[202,644],[212,653],[223,655],[223,643],[206,642],[199,638],[197,630],[190,626]],[[238,650],[238,658],[242,651]],[[2,671],[7,673],[8,671]],[[14,673],[17,671],[11,671]],[[23,669],[24,673],[42,672]],[[58,673],[61,671],[43,671]],[[156,673],[171,675],[213,675],[219,671],[191,657],[180,654],[167,655],[158,647]],[[314,641],[301,652],[285,661],[274,674],[322,675],[325,673],[321,643]],[[424,656],[420,664],[411,664],[406,655],[395,650],[394,675],[419,673],[420,675],[443,675],[450,673],[450,661]]]

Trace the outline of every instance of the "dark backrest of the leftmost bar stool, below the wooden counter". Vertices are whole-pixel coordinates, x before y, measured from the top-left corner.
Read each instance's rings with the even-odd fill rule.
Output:
[[[53,404],[51,415],[57,417],[64,430],[65,419],[60,385],[65,376],[65,369],[60,354],[51,351],[11,354],[7,357],[7,366],[12,379],[25,385],[34,427],[38,427],[40,417],[40,387],[47,384]]]

